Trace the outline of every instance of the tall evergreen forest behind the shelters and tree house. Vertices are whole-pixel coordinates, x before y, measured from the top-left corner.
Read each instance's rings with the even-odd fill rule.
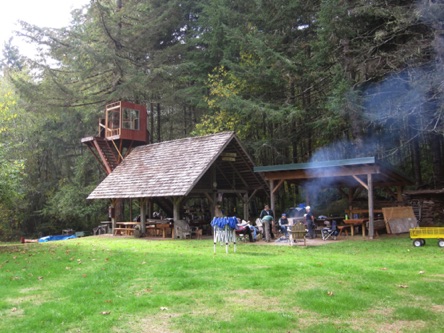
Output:
[[[81,138],[146,105],[153,142],[235,131],[256,165],[375,156],[444,186],[439,0],[91,0],[21,22],[0,59],[0,238],[90,230],[106,176]],[[290,203],[289,203],[290,204]]]

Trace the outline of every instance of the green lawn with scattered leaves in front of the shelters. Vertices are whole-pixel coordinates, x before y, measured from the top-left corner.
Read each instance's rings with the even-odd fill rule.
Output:
[[[0,247],[0,332],[441,332],[444,250],[85,237]]]

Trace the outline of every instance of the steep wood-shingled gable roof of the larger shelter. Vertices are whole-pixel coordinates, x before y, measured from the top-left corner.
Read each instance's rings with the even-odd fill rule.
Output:
[[[154,143],[134,148],[88,199],[187,196],[213,189],[214,175],[217,189],[266,189],[253,168],[233,132]]]

